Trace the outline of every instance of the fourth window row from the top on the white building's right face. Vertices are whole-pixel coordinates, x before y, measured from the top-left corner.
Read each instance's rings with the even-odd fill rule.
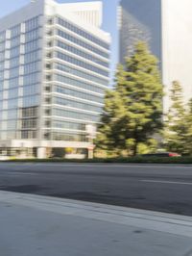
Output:
[[[69,55],[63,54],[61,52],[56,52],[56,57],[59,58],[62,61],[67,62],[67,63],[76,64],[78,66],[82,66],[82,67],[84,67],[87,70],[90,70],[90,71],[93,71],[93,72],[98,73],[100,75],[108,77],[108,71],[106,71],[106,70],[104,70],[102,68],[96,67],[96,66],[94,66],[92,64],[87,64],[86,62],[83,62],[83,61],[80,61],[78,59],[75,59],[74,57],[71,57]]]

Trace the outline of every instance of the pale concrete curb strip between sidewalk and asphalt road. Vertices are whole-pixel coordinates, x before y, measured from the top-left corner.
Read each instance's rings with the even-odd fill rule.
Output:
[[[1,202],[192,238],[191,217],[17,192],[0,191]]]

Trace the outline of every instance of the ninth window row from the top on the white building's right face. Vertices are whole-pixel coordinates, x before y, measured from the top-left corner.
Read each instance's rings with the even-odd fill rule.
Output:
[[[75,111],[66,111],[60,109],[53,109],[52,115],[60,116],[60,117],[68,117],[74,118],[78,120],[85,120],[85,121],[94,121],[98,122],[100,120],[100,115],[92,115],[92,114],[84,114]]]

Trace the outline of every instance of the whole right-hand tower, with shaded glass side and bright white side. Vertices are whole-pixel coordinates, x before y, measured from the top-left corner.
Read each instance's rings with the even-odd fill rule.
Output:
[[[170,106],[173,81],[180,82],[185,101],[192,98],[192,1],[121,0],[120,5],[120,62],[137,40],[144,39],[159,60],[164,112]]]

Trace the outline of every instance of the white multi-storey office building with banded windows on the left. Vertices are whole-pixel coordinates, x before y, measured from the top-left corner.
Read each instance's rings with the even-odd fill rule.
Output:
[[[100,121],[109,80],[101,24],[101,2],[36,0],[0,19],[1,154],[92,147],[87,132]]]

